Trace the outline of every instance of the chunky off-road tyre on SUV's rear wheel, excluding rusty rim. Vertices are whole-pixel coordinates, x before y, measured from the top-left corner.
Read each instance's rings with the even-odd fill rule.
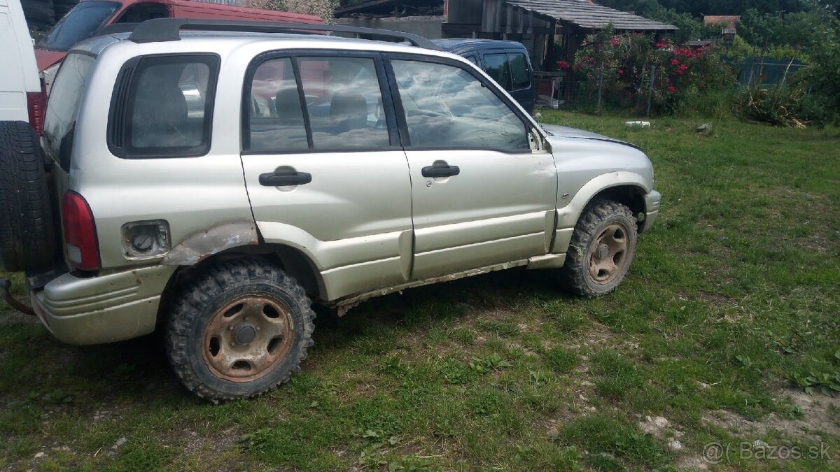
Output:
[[[264,376],[235,382],[213,373],[202,357],[205,330],[214,317],[240,297],[270,297],[288,309],[293,331],[285,357]],[[315,312],[303,287],[285,272],[262,260],[224,261],[197,275],[176,294],[165,331],[166,354],[172,369],[186,388],[209,401],[247,398],[275,388],[301,370],[312,346]],[[244,318],[248,319],[248,318]]]

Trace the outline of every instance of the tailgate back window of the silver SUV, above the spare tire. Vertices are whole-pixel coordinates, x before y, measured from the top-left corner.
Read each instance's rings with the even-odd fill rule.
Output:
[[[46,151],[55,159],[58,159],[61,141],[71,139],[69,134],[76,123],[76,114],[79,113],[81,92],[94,60],[90,55],[68,54],[53,82],[45,116],[44,137]]]

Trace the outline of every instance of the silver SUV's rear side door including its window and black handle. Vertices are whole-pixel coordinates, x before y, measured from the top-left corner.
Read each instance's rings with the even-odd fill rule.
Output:
[[[268,243],[295,246],[328,298],[408,280],[411,188],[381,55],[269,54],[245,78],[242,162]]]

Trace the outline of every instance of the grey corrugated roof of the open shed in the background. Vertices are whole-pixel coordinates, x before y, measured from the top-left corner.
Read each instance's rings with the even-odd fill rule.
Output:
[[[585,29],[603,29],[608,24],[612,24],[615,29],[633,31],[677,29],[673,24],[659,23],[633,13],[601,7],[601,5],[581,0],[504,0],[504,2]]]

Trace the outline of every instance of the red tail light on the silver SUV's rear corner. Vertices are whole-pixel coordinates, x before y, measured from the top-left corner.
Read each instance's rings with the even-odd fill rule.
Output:
[[[67,259],[76,269],[99,269],[97,227],[91,207],[75,191],[67,191],[61,199],[61,220]]]

